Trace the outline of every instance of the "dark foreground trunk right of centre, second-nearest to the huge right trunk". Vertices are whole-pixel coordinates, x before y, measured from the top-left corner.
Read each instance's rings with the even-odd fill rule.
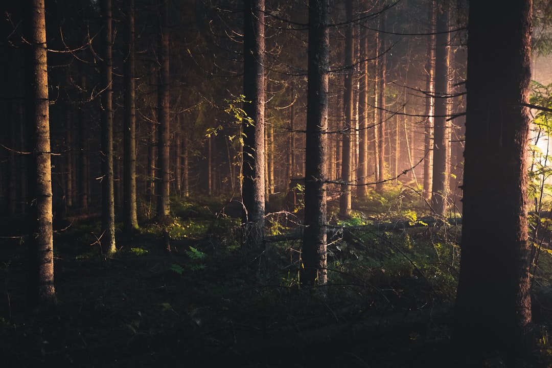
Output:
[[[309,0],[305,220],[301,282],[326,284],[326,177],[330,1]]]

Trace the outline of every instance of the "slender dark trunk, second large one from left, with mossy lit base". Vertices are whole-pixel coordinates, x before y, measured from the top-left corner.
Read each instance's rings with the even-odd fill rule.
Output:
[[[113,59],[112,59],[112,3],[101,2],[102,28],[102,252],[114,253],[115,199],[113,187]]]

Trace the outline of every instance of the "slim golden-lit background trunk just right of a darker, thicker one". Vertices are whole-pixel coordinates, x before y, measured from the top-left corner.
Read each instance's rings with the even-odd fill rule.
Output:
[[[359,198],[368,195],[368,30],[363,30],[360,37],[360,91],[358,98],[359,147],[358,147],[358,186]]]

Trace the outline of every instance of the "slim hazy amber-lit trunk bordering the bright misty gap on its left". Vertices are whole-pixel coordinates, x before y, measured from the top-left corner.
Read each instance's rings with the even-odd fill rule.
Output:
[[[380,15],[380,30],[385,30],[385,13]],[[376,171],[376,190],[378,192],[383,191],[383,185],[385,180],[385,72],[386,72],[386,62],[387,62],[387,50],[386,50],[385,35],[379,33],[378,35],[378,86],[377,86],[377,104],[376,109],[378,109],[378,136],[376,138],[376,144],[378,145],[378,156],[376,160],[378,161]]]

